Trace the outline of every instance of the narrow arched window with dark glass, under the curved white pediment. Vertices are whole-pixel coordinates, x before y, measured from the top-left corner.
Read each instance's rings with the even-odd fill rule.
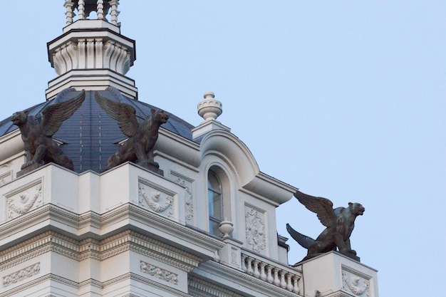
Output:
[[[207,204],[209,208],[209,232],[219,236],[219,224],[223,220],[222,183],[217,174],[207,173]]]

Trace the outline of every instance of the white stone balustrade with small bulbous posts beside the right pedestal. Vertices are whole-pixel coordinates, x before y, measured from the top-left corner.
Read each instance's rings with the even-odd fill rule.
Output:
[[[242,270],[251,276],[260,278],[293,293],[299,293],[298,286],[301,272],[263,258],[249,251],[242,251]]]

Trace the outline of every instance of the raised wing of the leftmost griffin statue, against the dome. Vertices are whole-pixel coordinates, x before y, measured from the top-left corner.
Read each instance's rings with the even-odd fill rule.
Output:
[[[81,107],[84,99],[85,90],[82,90],[81,94],[73,99],[56,103],[43,109],[43,120],[41,123],[43,134],[49,137],[53,136],[59,130],[63,121],[70,118]]]

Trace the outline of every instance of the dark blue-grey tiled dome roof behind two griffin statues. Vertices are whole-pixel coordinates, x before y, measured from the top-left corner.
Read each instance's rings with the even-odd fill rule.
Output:
[[[63,122],[58,132],[53,135],[54,139],[63,142],[61,148],[73,160],[76,172],[84,172],[86,170],[102,172],[106,167],[108,157],[118,150],[118,142],[127,138],[118,127],[118,122],[110,118],[100,108],[95,100],[95,92],[93,90],[85,91],[85,100],[81,108],[76,110],[76,113],[71,118]],[[73,88],[66,89],[53,100],[34,105],[27,110],[29,110],[29,115],[35,116],[36,120],[39,121],[41,120],[41,111],[44,108],[74,98],[80,93],[80,91],[76,91]],[[127,98],[113,88],[101,90],[98,93],[110,100],[133,106],[136,110],[136,115],[141,119],[145,119],[146,115],[151,114],[152,108],[155,108],[147,103]],[[192,140],[191,130],[194,126],[185,122],[185,120],[177,118],[175,115],[170,114],[169,120],[162,127],[181,137],[185,137],[187,140]],[[19,129],[19,127],[13,125],[10,118],[0,122],[0,136],[16,129]]]

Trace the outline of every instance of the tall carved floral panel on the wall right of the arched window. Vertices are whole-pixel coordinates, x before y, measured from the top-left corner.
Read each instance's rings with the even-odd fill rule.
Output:
[[[264,213],[245,205],[247,244],[253,251],[261,253],[266,248]]]

